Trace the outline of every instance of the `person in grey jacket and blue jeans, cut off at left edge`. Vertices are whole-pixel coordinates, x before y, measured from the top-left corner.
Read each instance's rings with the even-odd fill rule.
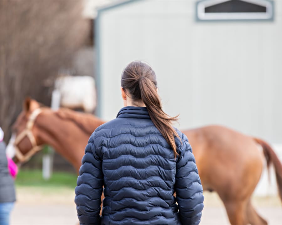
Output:
[[[16,201],[13,178],[8,169],[4,133],[0,128],[0,225],[9,224],[10,213]]]

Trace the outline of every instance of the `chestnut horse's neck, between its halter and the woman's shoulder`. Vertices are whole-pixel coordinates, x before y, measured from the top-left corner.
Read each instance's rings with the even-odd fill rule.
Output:
[[[72,121],[64,120],[50,112],[42,113],[36,123],[40,142],[55,148],[56,152],[78,171],[91,133],[82,131]]]

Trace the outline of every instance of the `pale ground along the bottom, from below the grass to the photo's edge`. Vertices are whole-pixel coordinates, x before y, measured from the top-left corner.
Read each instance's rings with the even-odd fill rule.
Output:
[[[11,225],[77,225],[74,190],[68,188],[17,188],[17,203]],[[282,206],[278,197],[255,197],[254,206],[269,224],[282,225]],[[205,192],[201,224],[229,224],[216,193]]]

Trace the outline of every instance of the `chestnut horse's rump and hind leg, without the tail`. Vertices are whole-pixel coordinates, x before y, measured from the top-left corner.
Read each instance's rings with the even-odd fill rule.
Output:
[[[250,202],[264,163],[257,142],[220,126],[184,133],[192,146],[204,190],[218,193],[231,224],[266,224]]]

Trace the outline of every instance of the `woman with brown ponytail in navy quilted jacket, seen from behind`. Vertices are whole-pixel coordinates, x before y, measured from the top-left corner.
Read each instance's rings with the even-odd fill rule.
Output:
[[[172,127],[176,117],[161,108],[154,71],[129,63],[121,87],[125,107],[94,131],[82,158],[75,189],[80,223],[199,224],[204,197],[195,158]]]

